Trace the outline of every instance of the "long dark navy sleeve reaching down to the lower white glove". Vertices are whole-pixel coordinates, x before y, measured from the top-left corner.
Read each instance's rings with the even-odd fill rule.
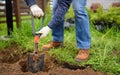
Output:
[[[71,2],[72,0],[58,0],[57,9],[49,22],[48,27],[53,29],[57,25],[60,25],[60,23],[64,20],[64,16],[69,9]]]

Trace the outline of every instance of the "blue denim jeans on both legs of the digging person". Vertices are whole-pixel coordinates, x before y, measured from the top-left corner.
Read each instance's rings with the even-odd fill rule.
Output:
[[[57,8],[58,0],[53,0],[53,16]],[[90,37],[90,26],[89,18],[86,11],[86,0],[73,0],[72,1],[73,10],[75,13],[75,24],[76,24],[76,42],[77,48],[79,49],[89,49],[91,44]],[[64,21],[61,21],[52,30],[53,41],[63,42],[64,41]]]

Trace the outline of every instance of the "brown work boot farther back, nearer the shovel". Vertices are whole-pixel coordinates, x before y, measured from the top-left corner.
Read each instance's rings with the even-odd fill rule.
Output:
[[[62,47],[63,42],[50,42],[47,45],[43,45],[42,50],[50,50],[51,48],[57,48],[57,47]]]

